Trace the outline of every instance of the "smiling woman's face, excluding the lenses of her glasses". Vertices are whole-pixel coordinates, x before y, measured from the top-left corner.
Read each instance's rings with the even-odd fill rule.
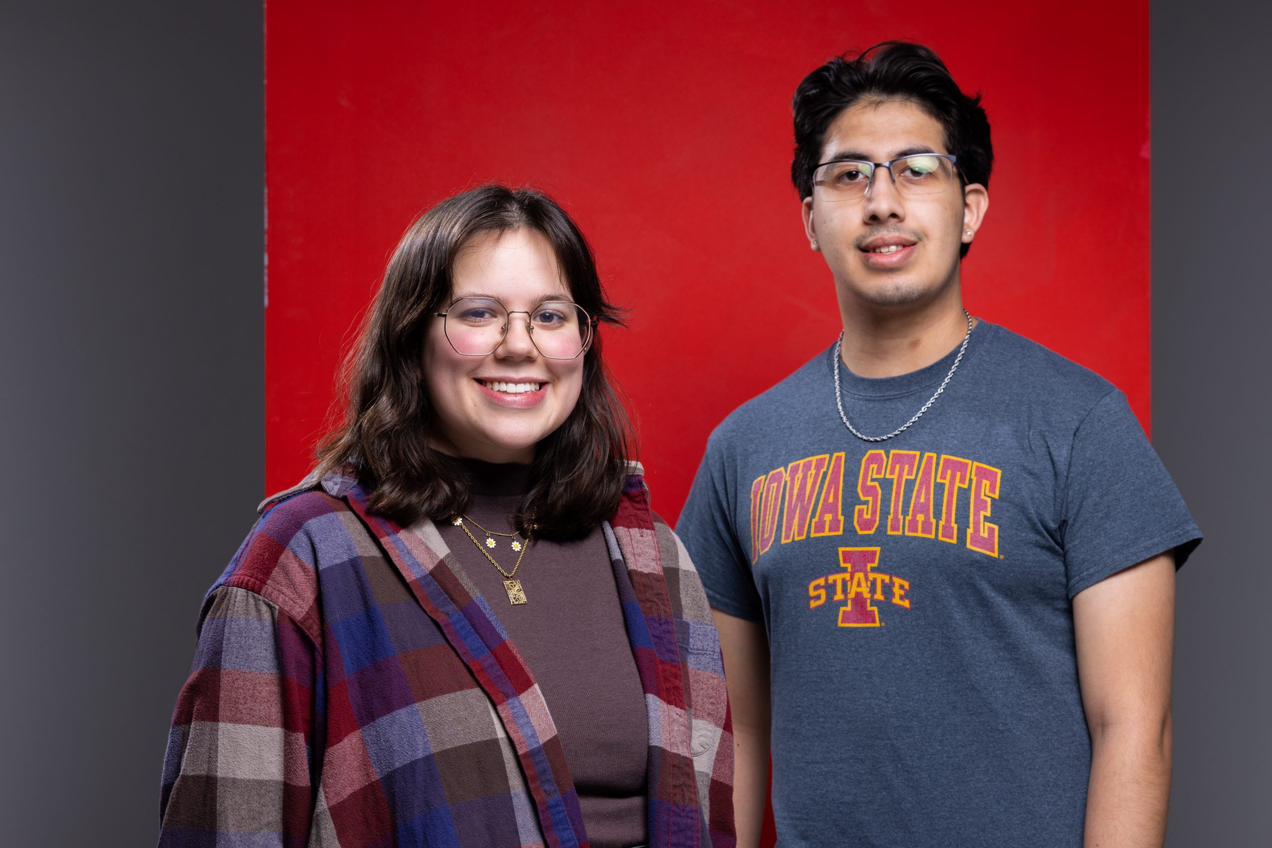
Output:
[[[464,247],[455,259],[450,301],[471,296],[494,297],[509,311],[571,300],[552,245],[534,229],[482,234]],[[529,463],[538,442],[570,417],[583,390],[585,355],[542,356],[525,319],[511,315],[504,341],[486,356],[457,353],[444,319],[430,319],[424,380],[438,416],[435,448],[491,463]]]

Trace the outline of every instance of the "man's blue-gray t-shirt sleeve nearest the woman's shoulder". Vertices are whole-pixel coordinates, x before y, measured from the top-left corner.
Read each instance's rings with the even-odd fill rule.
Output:
[[[711,606],[758,622],[763,608],[734,521],[736,486],[730,484],[724,453],[724,439],[716,431],[707,441],[675,534],[698,570]]]

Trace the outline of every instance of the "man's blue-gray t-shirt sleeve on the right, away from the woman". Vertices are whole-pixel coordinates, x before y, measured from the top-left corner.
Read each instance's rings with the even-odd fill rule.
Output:
[[[1178,568],[1201,543],[1179,489],[1116,389],[1074,435],[1062,526],[1070,598],[1159,553],[1174,551]]]

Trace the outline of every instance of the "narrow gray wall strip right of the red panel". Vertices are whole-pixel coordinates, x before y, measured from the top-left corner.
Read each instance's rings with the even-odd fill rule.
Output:
[[[1272,5],[1152,9],[1152,441],[1206,534],[1179,572],[1166,843],[1244,848],[1272,833]]]

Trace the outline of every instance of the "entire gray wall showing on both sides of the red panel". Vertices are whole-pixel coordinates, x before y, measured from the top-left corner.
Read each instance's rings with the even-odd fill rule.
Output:
[[[1154,441],[1207,534],[1179,580],[1173,848],[1272,829],[1272,15],[1194,6],[1152,17]],[[261,79],[254,3],[0,4],[6,847],[155,837],[195,610],[263,479]]]

